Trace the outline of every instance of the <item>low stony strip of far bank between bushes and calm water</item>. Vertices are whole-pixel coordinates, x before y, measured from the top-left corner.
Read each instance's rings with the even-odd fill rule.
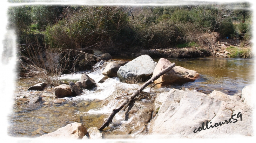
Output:
[[[223,58],[252,58],[250,43],[241,43],[238,39],[220,39],[215,45],[190,46],[181,44],[168,48],[106,51],[115,56],[140,56],[147,54],[150,57],[159,58],[197,58],[197,57],[223,57]]]

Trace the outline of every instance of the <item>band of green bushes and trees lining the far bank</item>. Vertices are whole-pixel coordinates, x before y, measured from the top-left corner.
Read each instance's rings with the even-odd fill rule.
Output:
[[[21,44],[33,43],[37,38],[41,44],[55,48],[89,47],[114,53],[122,49],[208,47],[224,37],[248,42],[252,23],[248,8],[249,3],[164,7],[25,5],[9,8],[9,28],[16,29]]]

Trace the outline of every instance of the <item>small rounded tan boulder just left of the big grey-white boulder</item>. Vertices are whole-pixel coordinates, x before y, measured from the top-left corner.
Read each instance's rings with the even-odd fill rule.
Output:
[[[102,71],[102,74],[108,77],[117,77],[117,71],[119,70],[120,66],[117,63],[110,62]]]

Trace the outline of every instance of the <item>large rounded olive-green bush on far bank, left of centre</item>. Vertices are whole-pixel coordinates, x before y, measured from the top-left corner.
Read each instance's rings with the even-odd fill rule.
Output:
[[[63,48],[105,47],[126,33],[128,15],[122,7],[86,6],[46,28],[48,42]],[[107,45],[106,45],[107,44]]]

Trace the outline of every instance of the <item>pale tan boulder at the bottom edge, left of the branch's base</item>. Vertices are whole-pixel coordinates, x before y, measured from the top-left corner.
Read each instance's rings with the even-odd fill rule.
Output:
[[[58,130],[42,135],[36,139],[41,138],[68,138],[68,139],[82,139],[87,134],[85,126],[81,123],[70,123],[65,127],[59,128]]]

